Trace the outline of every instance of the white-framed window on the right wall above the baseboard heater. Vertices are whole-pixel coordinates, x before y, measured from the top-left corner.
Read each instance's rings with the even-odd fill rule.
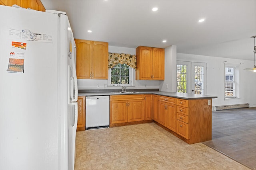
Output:
[[[236,97],[236,67],[225,66],[225,98]]]

